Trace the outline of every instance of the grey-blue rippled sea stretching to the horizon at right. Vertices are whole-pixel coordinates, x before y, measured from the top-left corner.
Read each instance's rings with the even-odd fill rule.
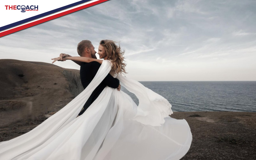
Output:
[[[256,112],[256,81],[142,81],[172,105],[172,111]],[[121,86],[121,90],[137,97]]]

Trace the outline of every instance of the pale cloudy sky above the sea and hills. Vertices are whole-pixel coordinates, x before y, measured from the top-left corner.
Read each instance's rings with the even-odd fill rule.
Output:
[[[96,51],[111,39],[137,81],[255,81],[255,8],[255,0],[109,0],[1,37],[0,59],[52,63],[79,56],[84,39]]]

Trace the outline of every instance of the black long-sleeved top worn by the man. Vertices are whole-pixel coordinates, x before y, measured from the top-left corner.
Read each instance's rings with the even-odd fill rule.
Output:
[[[100,68],[100,63],[92,61],[90,63],[82,62],[80,67],[80,78],[84,89],[92,82],[92,79],[96,75]],[[89,99],[84,104],[84,109],[78,114],[79,116],[92,104],[94,100],[100,95],[103,89],[106,87],[117,88],[119,86],[119,80],[108,74],[103,81],[95,88]]]

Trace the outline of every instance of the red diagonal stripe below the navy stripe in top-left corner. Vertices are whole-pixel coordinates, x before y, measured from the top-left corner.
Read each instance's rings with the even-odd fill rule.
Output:
[[[1,33],[0,33],[0,37],[9,35],[9,34],[11,34],[11,33],[20,31],[20,30],[22,30],[22,29],[26,29],[26,28],[29,28],[29,27],[38,25],[38,24],[40,24],[40,23],[44,23],[44,22],[49,21],[49,20],[53,20],[53,19],[55,19],[55,18],[59,18],[59,17],[61,17],[61,16],[65,16],[65,15],[67,15],[67,14],[69,14],[69,13],[73,13],[73,12],[82,10],[82,9],[84,9],[84,8],[88,8],[88,7],[91,7],[91,6],[93,6],[93,5],[96,5],[96,4],[105,2],[105,1],[108,1],[108,0],[99,0],[99,1],[96,1],[96,2],[92,2],[92,3],[90,3],[90,4],[85,4],[85,5],[83,5],[83,6],[80,6],[80,7],[77,7],[77,8],[74,8],[74,9],[71,9],[71,10],[68,10],[68,11],[65,11],[65,12],[62,12],[62,13],[55,14],[55,15],[52,15],[52,16],[50,16],[50,17],[46,17],[46,18],[44,18],[44,19],[37,20],[37,21],[31,22],[31,23],[22,25],[22,26],[20,26],[20,27],[12,28],[12,29],[10,29],[10,30],[1,32]]]

